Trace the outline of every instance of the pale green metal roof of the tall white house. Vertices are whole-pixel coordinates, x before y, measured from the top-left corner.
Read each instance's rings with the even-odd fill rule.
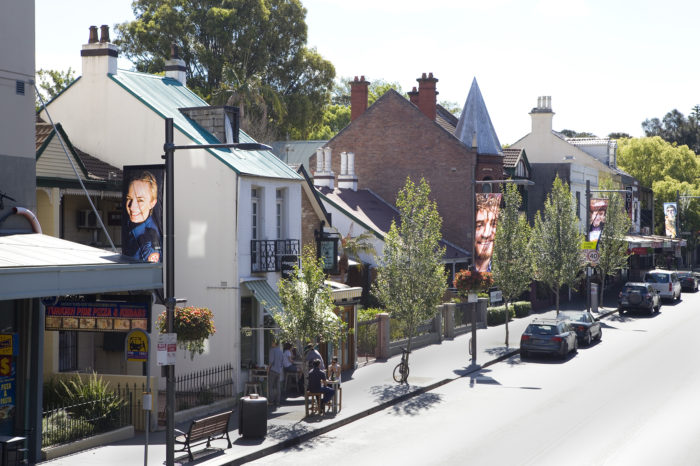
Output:
[[[119,70],[118,74],[110,74],[109,77],[164,119],[172,118],[175,128],[189,137],[193,143],[218,144],[221,142],[178,110],[209,104],[176,79],[125,70]],[[243,131],[240,132],[239,140],[256,142]],[[301,180],[294,170],[270,151],[206,150],[241,175]]]

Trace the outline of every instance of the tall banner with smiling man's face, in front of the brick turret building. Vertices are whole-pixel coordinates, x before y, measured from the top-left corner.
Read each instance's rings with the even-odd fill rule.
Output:
[[[476,221],[474,234],[474,268],[478,272],[491,271],[493,240],[501,207],[501,193],[476,194]]]

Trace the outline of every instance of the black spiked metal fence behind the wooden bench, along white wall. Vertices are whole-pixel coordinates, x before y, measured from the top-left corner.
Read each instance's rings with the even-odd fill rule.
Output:
[[[233,396],[233,366],[211,367],[181,375],[175,379],[175,404],[178,411],[208,405]]]

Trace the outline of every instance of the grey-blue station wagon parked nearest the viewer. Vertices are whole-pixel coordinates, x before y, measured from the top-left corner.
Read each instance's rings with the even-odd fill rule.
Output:
[[[578,338],[568,321],[535,319],[520,337],[520,358],[531,353],[549,353],[565,359],[578,350]]]

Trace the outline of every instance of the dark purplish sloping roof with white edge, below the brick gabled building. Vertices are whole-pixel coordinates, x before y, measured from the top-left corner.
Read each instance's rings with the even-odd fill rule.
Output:
[[[389,233],[392,221],[400,222],[398,209],[369,189],[354,191],[322,187],[317,190],[328,203],[343,211],[362,228],[373,232],[382,241]],[[448,241],[441,240],[440,245],[445,247],[443,259],[470,256],[468,251]]]

